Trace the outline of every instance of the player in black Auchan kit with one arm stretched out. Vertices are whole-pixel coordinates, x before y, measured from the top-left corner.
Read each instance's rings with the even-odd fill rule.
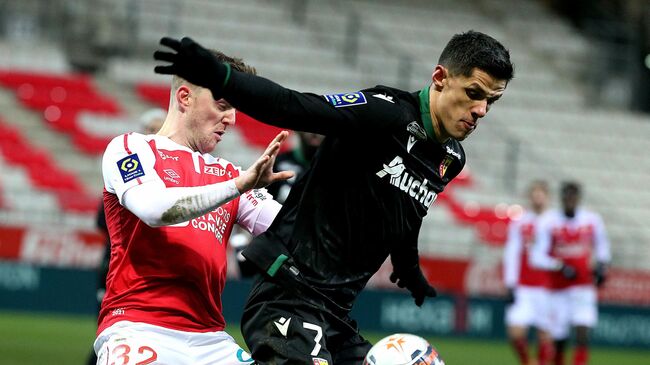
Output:
[[[156,66],[210,89],[257,120],[325,135],[266,233],[243,251],[259,275],[242,332],[259,364],[361,364],[371,345],[349,317],[390,255],[391,280],[415,303],[436,295],[418,233],[461,171],[467,138],[513,77],[508,50],[475,31],[443,49],[420,91],[376,86],[316,95],[231,70],[190,38],[163,38]]]

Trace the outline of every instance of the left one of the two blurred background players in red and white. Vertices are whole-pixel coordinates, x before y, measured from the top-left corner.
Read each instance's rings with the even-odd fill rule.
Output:
[[[505,322],[508,338],[522,365],[533,364],[528,355],[528,329],[537,329],[538,364],[553,358],[553,339],[549,333],[549,274],[532,268],[529,253],[535,241],[539,217],[548,207],[549,189],[545,181],[533,181],[528,189],[530,209],[513,220],[503,251],[503,278],[508,289]]]

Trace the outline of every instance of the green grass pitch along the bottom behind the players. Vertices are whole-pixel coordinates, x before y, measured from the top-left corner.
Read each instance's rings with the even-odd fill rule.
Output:
[[[239,328],[228,332],[243,344]],[[386,334],[363,333],[371,342]],[[88,316],[63,316],[0,312],[0,364],[76,365],[85,364],[95,337],[95,319]],[[515,365],[505,341],[429,338],[447,365]],[[571,364],[567,359],[567,364]],[[650,350],[594,348],[590,365],[650,364]]]

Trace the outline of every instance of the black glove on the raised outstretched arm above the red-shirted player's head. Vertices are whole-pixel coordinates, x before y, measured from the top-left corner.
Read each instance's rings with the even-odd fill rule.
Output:
[[[160,44],[176,52],[154,52],[153,58],[156,60],[171,62],[169,66],[156,66],[156,73],[180,76],[195,85],[210,89],[215,100],[221,99],[221,91],[230,74],[230,65],[218,61],[212,52],[189,37],[183,37],[180,41],[164,37],[160,39]]]

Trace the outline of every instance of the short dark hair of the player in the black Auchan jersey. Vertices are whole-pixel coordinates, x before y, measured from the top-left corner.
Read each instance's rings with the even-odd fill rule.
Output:
[[[510,81],[514,76],[510,52],[496,39],[474,30],[454,35],[442,50],[438,64],[451,75],[469,77],[478,68],[500,80]]]

